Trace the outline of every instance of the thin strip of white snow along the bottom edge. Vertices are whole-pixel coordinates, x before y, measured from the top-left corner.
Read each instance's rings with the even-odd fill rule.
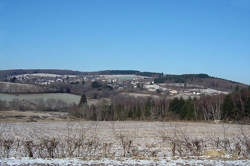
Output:
[[[250,165],[250,160],[201,160],[201,159],[176,159],[164,158],[160,160],[136,160],[130,158],[122,159],[101,159],[101,160],[81,160],[78,158],[64,158],[64,159],[31,159],[23,158],[4,158],[0,159],[2,166],[16,166],[16,165],[217,165],[217,166],[234,166],[234,165]]]

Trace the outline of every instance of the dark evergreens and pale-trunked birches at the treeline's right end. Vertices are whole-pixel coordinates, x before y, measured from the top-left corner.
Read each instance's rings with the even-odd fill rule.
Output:
[[[169,111],[186,120],[249,120],[250,88],[200,99],[173,99]]]

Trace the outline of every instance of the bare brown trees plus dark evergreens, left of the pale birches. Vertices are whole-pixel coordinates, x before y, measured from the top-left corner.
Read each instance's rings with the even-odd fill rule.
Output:
[[[198,120],[201,116],[197,115],[195,102],[182,98],[115,96],[98,105],[79,104],[80,107],[72,109],[71,113],[88,120]]]

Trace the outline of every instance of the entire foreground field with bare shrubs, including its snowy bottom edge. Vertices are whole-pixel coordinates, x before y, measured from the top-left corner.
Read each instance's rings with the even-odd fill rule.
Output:
[[[14,141],[8,151],[1,146],[0,163],[249,165],[249,131],[249,125],[201,122],[7,122],[1,145]]]

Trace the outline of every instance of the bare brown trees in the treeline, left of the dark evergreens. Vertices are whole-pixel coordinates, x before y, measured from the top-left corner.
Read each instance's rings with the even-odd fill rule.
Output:
[[[164,120],[169,100],[115,96],[97,105],[79,104],[71,110],[88,120]]]

